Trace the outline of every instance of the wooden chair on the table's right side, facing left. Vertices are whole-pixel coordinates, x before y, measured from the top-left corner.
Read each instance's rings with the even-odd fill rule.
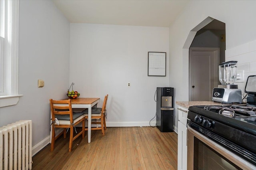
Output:
[[[92,127],[92,130],[100,130],[102,131],[102,136],[105,135],[105,131],[107,129],[106,127],[106,105],[107,105],[108,95],[105,96],[103,101],[102,108],[100,107],[92,107],[92,119],[98,119],[99,122],[92,122],[92,124],[100,124],[101,127]],[[86,110],[85,119],[88,119],[88,110]],[[88,130],[88,128],[85,128],[84,130]]]

